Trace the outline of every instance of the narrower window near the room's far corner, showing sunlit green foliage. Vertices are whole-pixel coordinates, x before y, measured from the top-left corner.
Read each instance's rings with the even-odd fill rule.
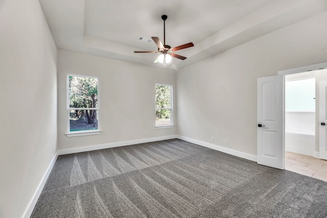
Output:
[[[155,85],[155,126],[173,126],[173,87]]]

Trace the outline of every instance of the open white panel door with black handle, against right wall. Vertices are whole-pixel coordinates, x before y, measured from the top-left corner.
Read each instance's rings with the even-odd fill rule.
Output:
[[[258,78],[257,162],[284,169],[283,75]]]

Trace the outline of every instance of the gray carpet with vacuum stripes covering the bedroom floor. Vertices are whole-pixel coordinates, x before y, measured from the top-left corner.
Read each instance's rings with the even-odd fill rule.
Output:
[[[172,139],[59,156],[31,217],[327,217],[327,183]]]

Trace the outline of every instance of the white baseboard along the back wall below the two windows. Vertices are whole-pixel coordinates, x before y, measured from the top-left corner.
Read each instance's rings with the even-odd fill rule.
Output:
[[[121,147],[121,146],[131,146],[132,144],[141,144],[141,143],[161,141],[161,140],[174,139],[174,138],[177,138],[177,135],[168,135],[168,136],[160,136],[160,137],[155,137],[155,138],[144,138],[144,139],[136,139],[136,140],[131,140],[131,141],[113,142],[113,143],[108,143],[108,144],[99,144],[97,146],[87,146],[87,147],[81,147],[81,148],[59,150],[57,152],[57,154],[58,155],[74,154],[74,153],[79,153],[79,152],[88,152],[88,151],[109,149],[109,148],[115,148],[115,147]]]

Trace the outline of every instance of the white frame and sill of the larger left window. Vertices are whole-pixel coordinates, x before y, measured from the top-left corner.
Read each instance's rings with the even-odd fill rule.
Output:
[[[97,79],[98,82],[98,107],[96,108],[71,108],[69,107],[69,77],[82,77],[82,78],[92,78]],[[98,111],[98,129],[97,130],[81,130],[81,131],[71,131],[70,130],[70,110],[97,110]],[[77,75],[77,74],[67,74],[66,77],[66,113],[67,113],[67,137],[75,137],[75,136],[84,136],[84,135],[99,135],[101,133],[100,129],[100,80],[99,77],[87,76],[87,75]]]

